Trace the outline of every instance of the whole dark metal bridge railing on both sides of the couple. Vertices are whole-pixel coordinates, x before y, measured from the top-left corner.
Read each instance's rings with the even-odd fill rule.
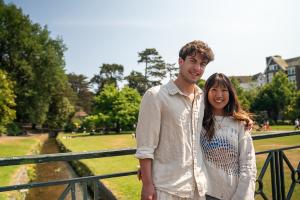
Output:
[[[253,135],[253,140],[264,140],[269,138],[279,138],[288,137],[292,135],[300,135],[300,131],[292,132],[282,132],[282,133],[272,133],[272,134],[260,134]],[[256,155],[266,155],[263,167],[259,172],[256,180],[257,189],[255,191],[255,196],[260,196],[263,199],[268,199],[265,192],[264,178],[267,170],[270,170],[271,179],[267,183],[272,187],[272,199],[273,200],[289,200],[296,198],[293,196],[296,185],[300,184],[300,160],[297,161],[298,165],[296,168],[293,167],[289,158],[286,155],[286,151],[299,149],[299,145],[283,147],[278,149],[271,149],[267,151],[256,152]],[[56,161],[75,161],[80,159],[92,159],[92,158],[102,158],[111,156],[124,156],[133,155],[136,149],[118,149],[112,151],[93,151],[93,152],[80,152],[80,153],[59,153],[59,154],[44,154],[44,155],[34,155],[34,156],[22,156],[22,157],[8,157],[0,158],[0,166],[12,166],[12,165],[25,165],[25,164],[37,164],[37,163],[47,163]],[[289,174],[285,174],[286,168]],[[284,170],[285,169],[285,170]],[[28,184],[19,185],[9,185],[0,186],[0,192],[30,189],[35,187],[46,187],[46,186],[56,186],[56,185],[66,185],[65,190],[60,195],[59,199],[65,199],[68,194],[71,194],[72,200],[78,198],[76,196],[76,184],[82,186],[82,197],[81,199],[87,200],[89,196],[93,199],[114,199],[113,195],[107,196],[103,194],[103,185],[99,180],[116,178],[122,176],[135,175],[137,171],[128,171],[123,173],[113,173],[97,176],[85,176],[65,180],[56,180],[49,182],[33,182]],[[289,177],[290,185],[285,184],[286,178]],[[287,189],[287,190],[286,190]],[[92,191],[92,194],[89,193]],[[300,197],[297,197],[300,199]]]

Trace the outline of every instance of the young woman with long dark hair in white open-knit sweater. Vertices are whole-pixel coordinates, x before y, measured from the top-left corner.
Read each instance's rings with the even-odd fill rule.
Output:
[[[207,168],[207,199],[253,200],[255,151],[251,135],[245,131],[250,116],[242,110],[224,74],[210,76],[204,91],[200,142]]]

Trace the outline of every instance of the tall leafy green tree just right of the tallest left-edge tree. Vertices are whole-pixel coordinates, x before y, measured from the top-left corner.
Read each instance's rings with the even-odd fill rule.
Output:
[[[28,106],[30,122],[34,124],[43,124],[49,113],[49,106],[56,98],[57,94],[65,96],[71,91],[67,82],[67,76],[64,71],[63,52],[66,50],[62,40],[53,40],[49,38],[48,31],[43,36],[41,42],[42,51],[46,54],[39,59],[32,61],[32,94],[30,96],[31,104]],[[68,89],[66,89],[68,88]],[[66,97],[66,96],[65,96]],[[70,95],[68,97],[74,97]],[[72,100],[69,100],[72,102]],[[50,111],[51,112],[51,111]]]

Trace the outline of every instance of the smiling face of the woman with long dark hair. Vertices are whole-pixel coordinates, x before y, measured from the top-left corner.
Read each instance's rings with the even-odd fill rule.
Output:
[[[214,115],[224,115],[224,108],[229,102],[227,87],[215,83],[208,91],[208,102]]]

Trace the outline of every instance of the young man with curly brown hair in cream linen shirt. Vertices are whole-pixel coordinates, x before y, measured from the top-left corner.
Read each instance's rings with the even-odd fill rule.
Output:
[[[136,130],[142,200],[205,199],[199,142],[204,106],[196,83],[213,59],[204,42],[190,42],[179,52],[177,79],[145,93]]]

